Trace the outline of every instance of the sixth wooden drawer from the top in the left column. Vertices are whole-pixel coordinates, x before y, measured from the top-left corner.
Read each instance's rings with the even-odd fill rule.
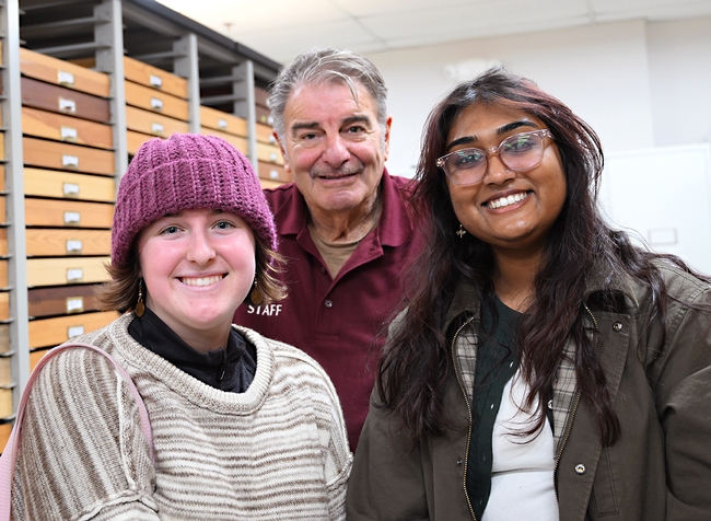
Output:
[[[110,228],[114,205],[25,198],[25,224],[28,227]]]

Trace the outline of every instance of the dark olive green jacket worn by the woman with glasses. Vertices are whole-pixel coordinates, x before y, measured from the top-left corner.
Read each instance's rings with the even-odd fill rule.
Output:
[[[649,288],[599,269],[599,280],[591,281],[587,316],[621,436],[603,447],[591,407],[580,400],[572,362],[561,363],[551,454],[560,521],[711,520],[711,313],[677,301],[711,305],[711,287],[676,268],[661,269],[671,296],[663,345],[658,322],[646,326]],[[595,305],[603,287],[619,292],[611,309]],[[450,334],[456,372],[445,394],[445,410],[462,428],[422,439],[408,452],[398,419],[371,404],[349,481],[349,520],[474,519],[465,475],[476,294],[461,285],[447,314],[447,326],[469,317]],[[567,348],[571,356],[574,350]]]

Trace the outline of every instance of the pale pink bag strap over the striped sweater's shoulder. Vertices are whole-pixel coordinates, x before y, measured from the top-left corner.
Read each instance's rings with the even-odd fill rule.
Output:
[[[30,391],[32,389],[32,385],[37,378],[39,370],[43,367],[45,367],[45,364],[55,355],[58,355],[59,352],[66,349],[74,348],[74,347],[84,347],[98,352],[104,358],[106,358],[109,362],[112,362],[112,366],[114,366],[116,372],[124,380],[126,380],[126,383],[128,384],[128,389],[131,392],[133,398],[136,400],[136,405],[138,405],[138,412],[141,418],[141,431],[143,432],[143,436],[148,441],[151,462],[155,463],[155,453],[153,450],[153,430],[151,429],[151,422],[148,417],[148,410],[145,410],[145,404],[143,403],[143,398],[141,398],[141,395],[138,392],[138,389],[136,389],[136,384],[133,383],[131,375],[128,374],[128,371],[126,371],[126,369],[124,369],[108,352],[106,352],[103,349],[100,349],[96,346],[90,346],[89,344],[66,344],[62,346],[55,347],[54,349],[49,349],[47,354],[44,357],[42,357],[42,359],[37,363],[37,367],[35,367],[34,371],[32,371],[32,374],[30,375],[30,380],[27,381],[27,385],[25,386],[25,390],[22,393],[22,398],[20,400],[20,404],[18,405],[15,425],[13,426],[12,432],[10,433],[10,438],[8,439],[8,444],[5,445],[4,451],[0,456],[0,521],[10,521],[10,511],[12,506],[10,495],[12,491],[12,478],[15,470],[15,461],[18,459],[18,444],[20,440],[20,430],[22,428],[22,418],[24,417],[25,405],[27,404],[27,398],[30,397]]]

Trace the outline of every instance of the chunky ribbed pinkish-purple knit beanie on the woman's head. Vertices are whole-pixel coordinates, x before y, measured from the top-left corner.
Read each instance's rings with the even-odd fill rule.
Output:
[[[247,159],[221,138],[174,134],[143,143],[121,178],[112,264],[126,262],[136,235],[153,221],[198,208],[236,213],[267,247],[277,248],[273,217]]]

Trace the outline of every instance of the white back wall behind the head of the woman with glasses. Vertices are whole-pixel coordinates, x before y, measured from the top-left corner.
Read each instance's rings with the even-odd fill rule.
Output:
[[[535,80],[597,131],[606,152],[709,140],[711,18],[632,21],[368,55],[388,85],[387,166],[411,175],[433,105],[456,83],[445,67],[497,60]]]

